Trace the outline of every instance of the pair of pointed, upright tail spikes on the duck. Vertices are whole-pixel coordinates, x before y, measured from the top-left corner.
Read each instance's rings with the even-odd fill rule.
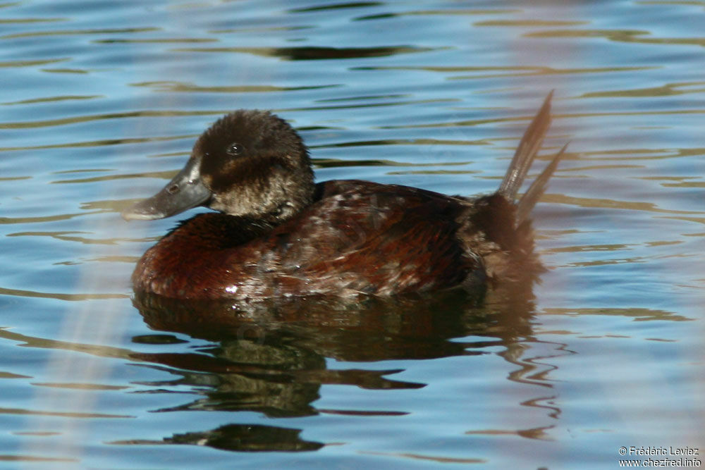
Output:
[[[524,132],[524,136],[519,142],[512,163],[510,163],[507,173],[504,175],[501,185],[499,185],[498,194],[505,197],[508,202],[515,201],[517,192],[519,192],[522,183],[524,183],[529,168],[531,168],[539,149],[541,149],[541,144],[544,143],[544,137],[546,136],[548,127],[551,125],[552,97],[553,92],[548,94],[544,100],[544,104],[541,105],[541,109],[539,109],[539,112],[534,116],[531,124],[529,124],[529,128]],[[563,149],[560,149],[558,154],[553,157],[551,163],[546,166],[544,171],[541,172],[541,175],[534,180],[534,183],[532,183],[527,192],[525,192],[516,203],[516,225],[519,225],[522,221],[527,219],[541,197],[541,194],[544,194],[548,180],[551,178],[551,175],[553,175],[553,171],[556,170],[558,161],[563,157],[566,147],[568,147],[568,144],[566,144]]]

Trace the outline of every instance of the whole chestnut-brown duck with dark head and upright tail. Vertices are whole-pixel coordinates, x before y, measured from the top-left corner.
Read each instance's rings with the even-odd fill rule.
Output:
[[[171,299],[393,297],[520,282],[543,270],[531,211],[565,147],[517,197],[551,123],[548,94],[498,190],[446,195],[364,180],[314,183],[309,151],[271,113],[238,110],[197,138],[164,188],[122,212],[153,220],[197,206],[135,266],[137,293]]]

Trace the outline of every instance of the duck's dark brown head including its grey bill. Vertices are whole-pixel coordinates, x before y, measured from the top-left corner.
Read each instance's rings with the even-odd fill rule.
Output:
[[[301,137],[268,111],[224,116],[196,141],[186,166],[126,220],[164,218],[195,206],[280,223],[311,204],[313,171]]]

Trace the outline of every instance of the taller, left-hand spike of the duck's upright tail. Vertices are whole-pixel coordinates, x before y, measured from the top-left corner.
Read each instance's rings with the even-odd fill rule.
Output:
[[[526,178],[529,168],[541,148],[541,144],[544,142],[544,136],[546,135],[548,126],[551,125],[552,97],[553,91],[548,93],[548,96],[544,99],[544,104],[541,105],[541,109],[539,109],[539,112],[534,117],[531,124],[529,124],[529,128],[524,132],[524,137],[522,137],[522,140],[519,142],[512,163],[510,163],[507,173],[504,175],[502,184],[499,185],[497,192],[503,195],[509,202],[514,202],[517,197],[517,192],[519,192],[519,188],[524,182],[524,178]],[[548,176],[550,175],[549,173]],[[543,173],[541,176],[543,176]],[[539,196],[540,195],[541,194],[539,194]]]

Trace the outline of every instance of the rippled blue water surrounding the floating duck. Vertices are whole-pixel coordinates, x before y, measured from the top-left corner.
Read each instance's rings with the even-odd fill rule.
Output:
[[[704,8],[0,4],[0,462],[592,469],[705,447]],[[118,212],[221,114],[274,109],[318,180],[470,195],[550,89],[541,161],[570,147],[529,301],[244,327],[133,306],[135,261],[176,221]]]

